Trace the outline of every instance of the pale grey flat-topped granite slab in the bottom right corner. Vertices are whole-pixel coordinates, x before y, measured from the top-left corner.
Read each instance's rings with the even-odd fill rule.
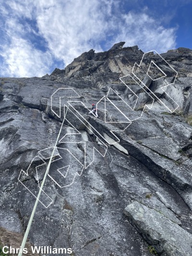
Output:
[[[161,255],[191,255],[192,235],[161,213],[136,201],[127,206],[124,213],[146,236],[146,240],[156,244]]]

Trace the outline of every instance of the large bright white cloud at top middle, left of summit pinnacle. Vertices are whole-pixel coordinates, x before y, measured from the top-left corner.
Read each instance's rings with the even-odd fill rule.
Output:
[[[91,48],[102,50],[99,42],[105,40],[108,31],[107,12],[105,1],[58,0],[39,13],[37,24],[55,57],[69,64]]]

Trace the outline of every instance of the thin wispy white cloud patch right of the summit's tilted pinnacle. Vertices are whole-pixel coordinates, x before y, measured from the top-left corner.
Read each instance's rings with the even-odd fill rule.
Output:
[[[155,49],[162,53],[176,47],[176,29],[166,29],[145,13],[129,12],[122,15],[116,40],[125,41],[126,46],[138,45],[145,52]]]

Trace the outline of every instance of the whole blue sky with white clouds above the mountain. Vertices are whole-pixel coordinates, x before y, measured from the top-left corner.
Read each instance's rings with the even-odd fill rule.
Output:
[[[192,0],[1,0],[0,76],[50,74],[120,41],[192,49],[191,10]]]

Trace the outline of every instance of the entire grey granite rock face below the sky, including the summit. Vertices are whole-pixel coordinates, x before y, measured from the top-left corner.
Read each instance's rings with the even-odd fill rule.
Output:
[[[123,45],[41,78],[0,78],[2,230],[24,234],[60,132],[40,197],[51,204],[39,202],[30,244],[75,256],[150,256],[149,245],[192,255],[192,50],[161,59]],[[87,115],[92,103],[99,119]]]

